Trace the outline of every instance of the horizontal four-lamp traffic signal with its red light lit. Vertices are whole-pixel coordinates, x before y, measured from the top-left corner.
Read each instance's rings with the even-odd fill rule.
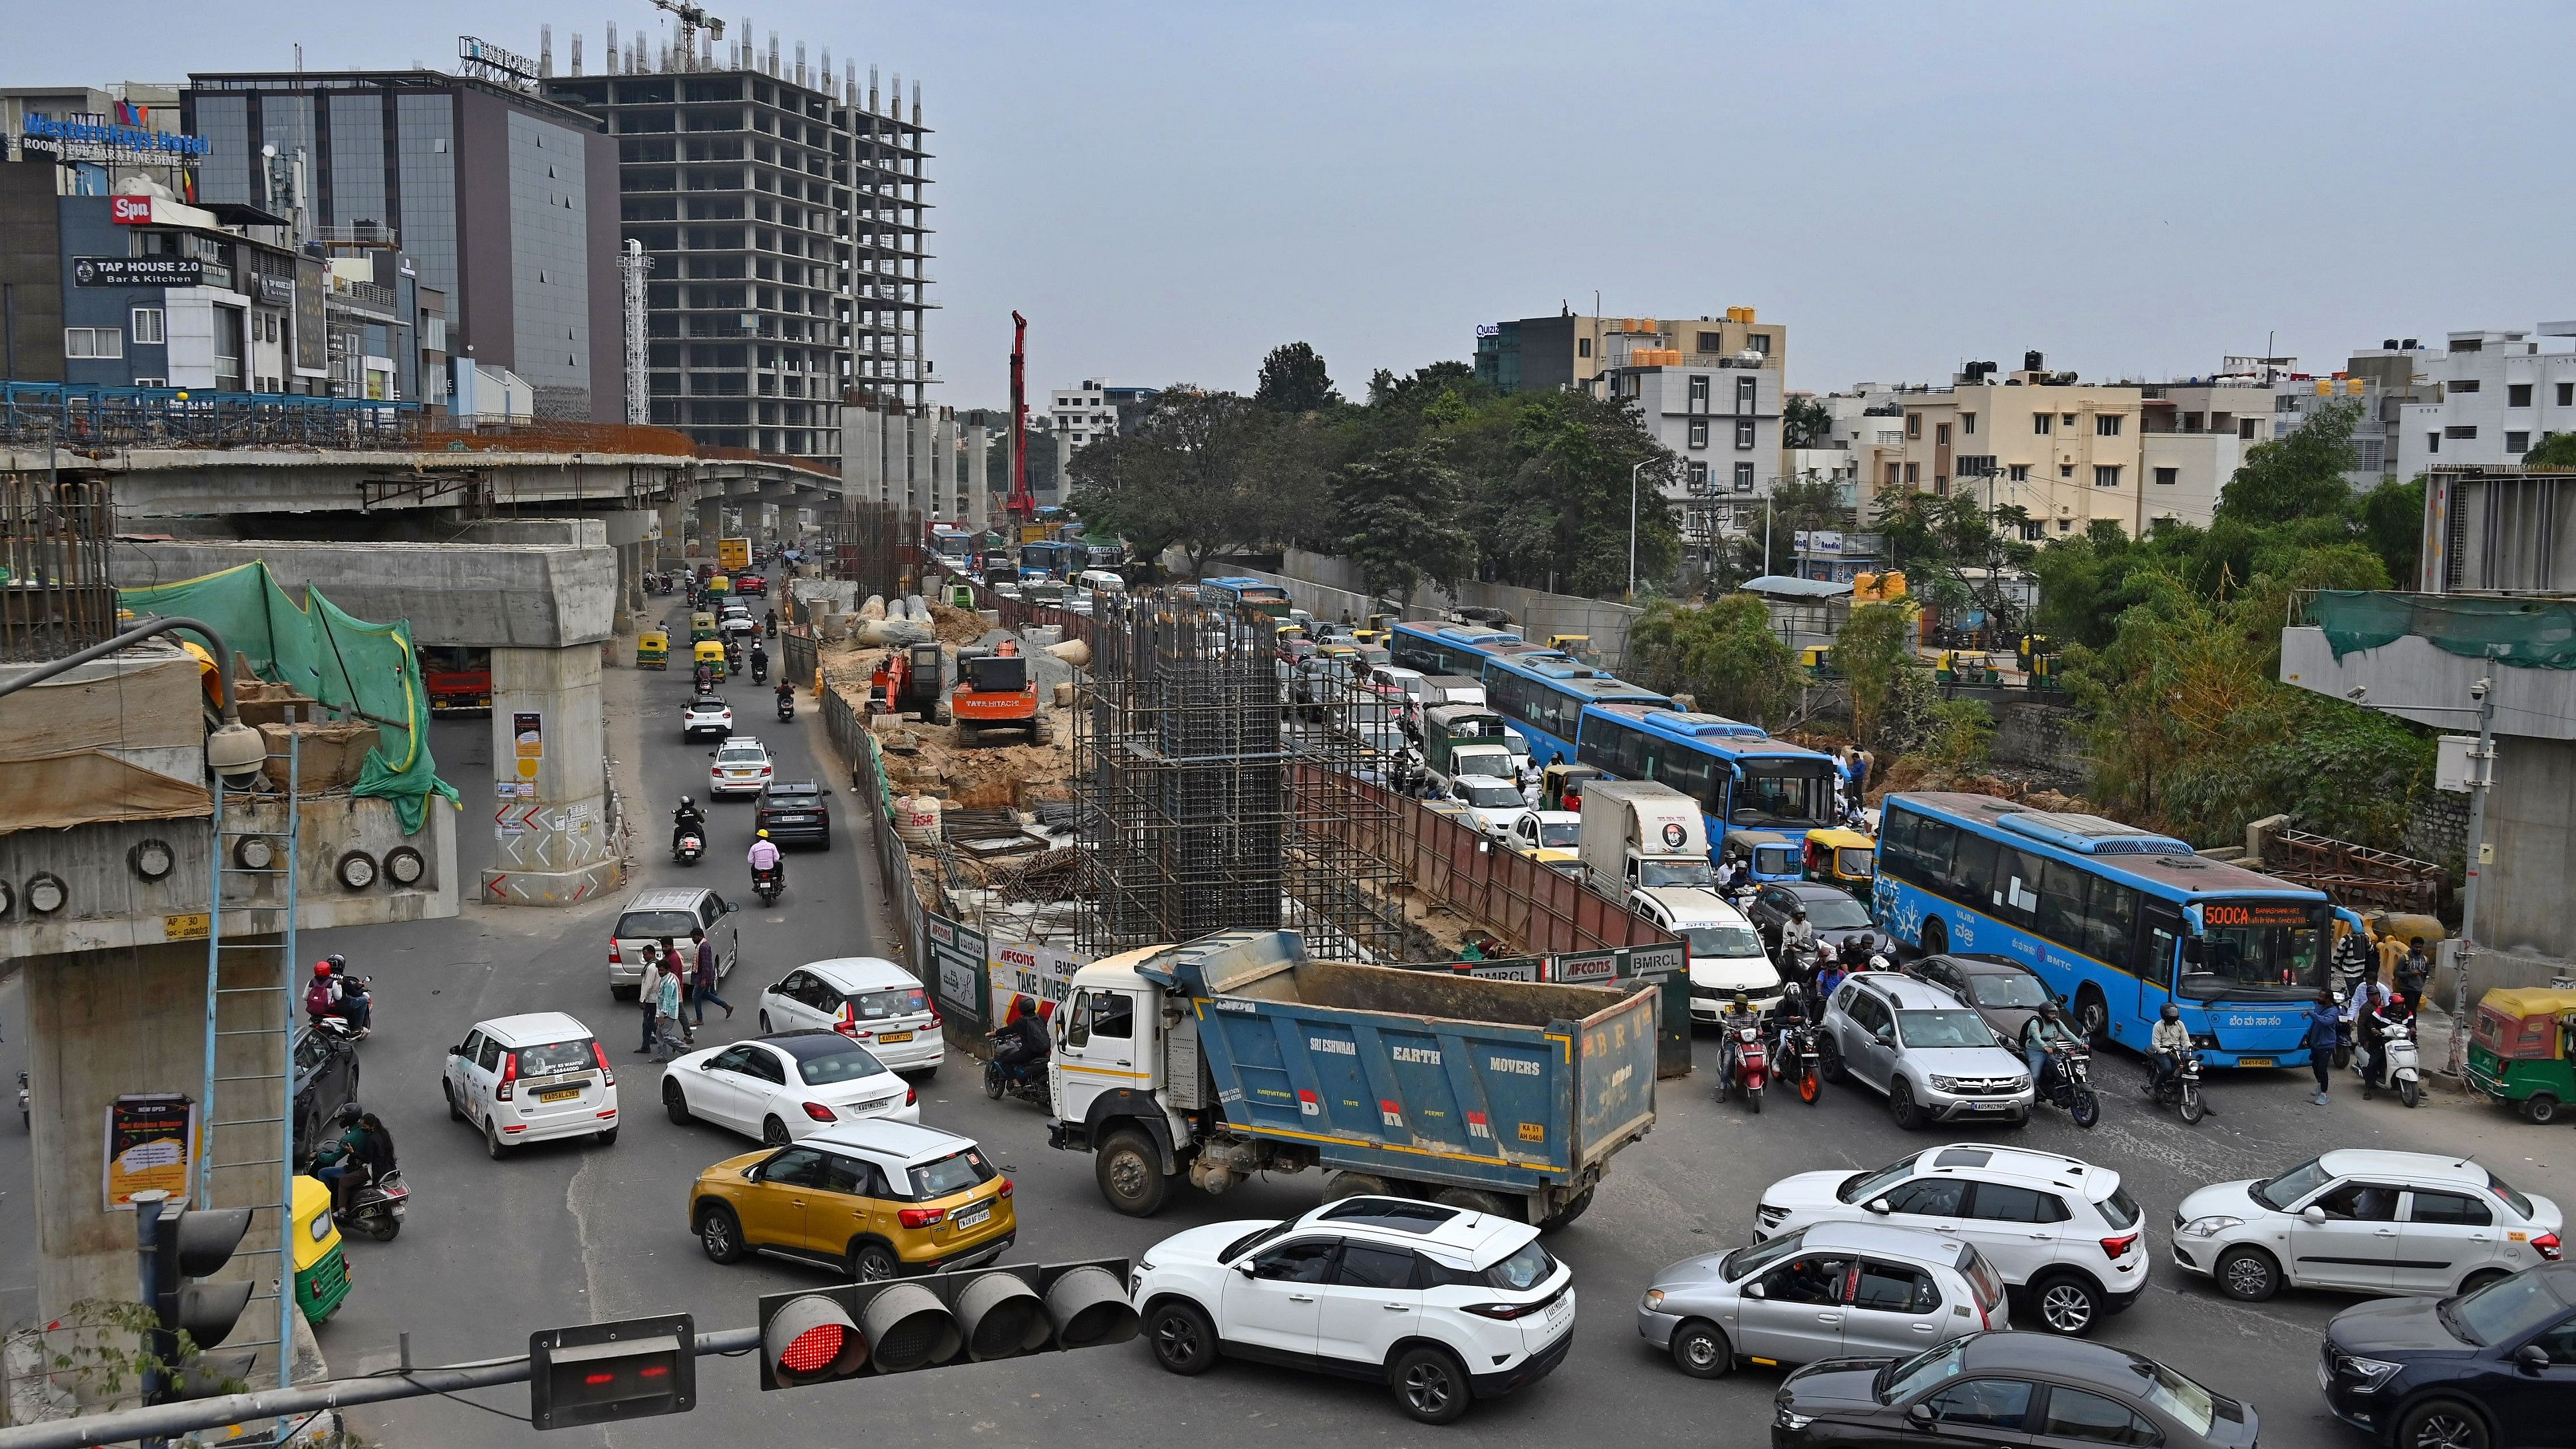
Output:
[[[760,1387],[1126,1343],[1126,1259],[1092,1259],[762,1295]]]

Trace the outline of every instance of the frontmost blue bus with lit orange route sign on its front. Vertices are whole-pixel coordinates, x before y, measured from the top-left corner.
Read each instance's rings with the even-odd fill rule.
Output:
[[[1991,795],[1888,795],[1875,906],[1924,952],[2038,970],[2094,1040],[2146,1050],[2174,1001],[2210,1066],[2308,1060],[2331,903],[2179,839]]]

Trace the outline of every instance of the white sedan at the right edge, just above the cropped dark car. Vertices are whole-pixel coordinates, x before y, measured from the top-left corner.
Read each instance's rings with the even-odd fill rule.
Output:
[[[2174,1266],[2262,1302],[2282,1287],[2450,1297],[2561,1261],[2566,1223],[2470,1158],[2344,1148],[2174,1210]]]

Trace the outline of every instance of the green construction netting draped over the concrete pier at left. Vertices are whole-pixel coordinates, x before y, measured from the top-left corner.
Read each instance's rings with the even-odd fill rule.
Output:
[[[428,821],[430,795],[459,800],[430,759],[430,695],[420,682],[412,625],[350,618],[322,589],[307,589],[299,605],[265,561],[152,589],[118,589],[118,600],[137,615],[201,618],[224,631],[224,643],[245,654],[260,679],[291,685],[374,723],[379,741],[350,793],[392,800],[404,834]]]

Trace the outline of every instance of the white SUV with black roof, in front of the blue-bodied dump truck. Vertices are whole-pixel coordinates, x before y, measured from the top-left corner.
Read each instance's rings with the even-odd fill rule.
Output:
[[[1128,1279],[1154,1361],[1218,1356],[1383,1382],[1422,1423],[1535,1382],[1574,1343],[1574,1269],[1538,1228],[1404,1197],[1211,1223],[1154,1243]]]

